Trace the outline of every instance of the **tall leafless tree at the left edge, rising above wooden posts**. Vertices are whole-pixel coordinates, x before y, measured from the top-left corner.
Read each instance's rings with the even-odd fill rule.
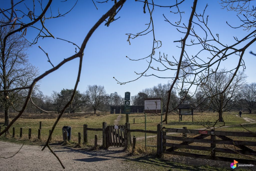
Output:
[[[4,22],[2,19],[0,22]],[[0,90],[7,90],[0,94],[2,107],[5,115],[5,126],[9,125],[8,109],[20,102],[24,98],[20,94],[20,90],[9,92],[10,89],[22,88],[30,85],[38,74],[36,67],[28,62],[27,54],[24,52],[27,48],[27,42],[24,40],[22,34],[15,33],[5,41],[5,37],[10,34],[16,27],[3,26],[0,27]]]

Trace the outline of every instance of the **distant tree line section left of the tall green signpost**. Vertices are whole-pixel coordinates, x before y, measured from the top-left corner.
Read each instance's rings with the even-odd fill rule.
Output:
[[[51,95],[44,95],[39,89],[31,95],[31,99],[25,112],[42,113],[44,111],[60,112],[70,100],[73,89],[62,89],[60,92],[52,91]],[[14,96],[14,95],[13,95]],[[19,95],[20,97],[22,95]],[[17,98],[19,96],[16,96]],[[8,107],[8,112],[18,112],[22,108],[23,99],[19,99],[19,103],[15,103]],[[3,103],[1,103],[3,104]],[[110,106],[119,106],[124,104],[124,98],[117,92],[107,94],[104,86],[88,85],[87,90],[81,93],[76,90],[76,94],[70,106],[65,110],[66,113],[75,113],[83,111],[109,111]],[[1,108],[5,110],[2,105]],[[39,109],[40,108],[40,109]]]

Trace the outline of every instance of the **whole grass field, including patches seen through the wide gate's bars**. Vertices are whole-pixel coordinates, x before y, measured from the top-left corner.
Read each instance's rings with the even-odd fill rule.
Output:
[[[236,114],[238,112],[226,112],[223,113],[223,118],[225,121],[225,126],[231,126],[231,127],[222,127],[218,128],[219,131],[237,131],[237,132],[247,132],[244,128],[256,132],[256,124],[255,123],[249,123],[243,118],[237,117]],[[10,118],[12,119],[15,117],[16,113],[10,114]],[[121,115],[121,120],[119,121],[119,124],[125,124],[125,115]],[[57,127],[55,128],[53,135],[52,135],[52,142],[51,143],[61,143],[62,140],[62,127],[63,126],[71,126],[72,127],[72,141],[70,146],[76,146],[76,143],[78,142],[78,132],[81,132],[83,135],[83,124],[88,124],[89,128],[102,128],[102,122],[107,122],[108,125],[113,125],[114,121],[117,119],[119,115],[113,115],[109,113],[99,113],[94,115],[93,113],[74,113],[74,114],[64,114],[63,118],[59,121],[57,124]],[[245,113],[242,115],[243,117],[251,118],[256,120],[256,114],[248,114]],[[45,143],[48,135],[49,130],[51,130],[52,125],[56,121],[57,114],[30,114],[30,113],[24,113],[24,115],[17,120],[17,122],[13,125],[13,127],[16,128],[16,136],[12,138],[10,135],[12,135],[12,129],[9,130],[10,135],[7,137],[1,136],[0,140],[4,141],[11,141],[11,142],[17,142],[17,143],[23,143],[26,144],[42,144]],[[183,121],[179,122],[178,115],[170,114],[168,115],[168,124],[163,124],[166,128],[182,128],[187,127],[187,129],[203,129],[204,127],[200,124],[204,121],[210,121],[215,122],[218,119],[218,113],[216,112],[199,112],[194,113],[194,122],[192,122],[192,116],[183,116]],[[135,120],[135,123],[133,121]],[[161,121],[161,116],[155,115],[155,114],[147,114],[146,116],[147,120],[147,130],[157,130],[157,124]],[[38,129],[39,129],[39,122],[42,122],[42,130],[41,130],[41,140],[37,139]],[[133,113],[129,115],[129,122],[131,123],[131,129],[145,129],[145,115],[143,113]],[[4,123],[4,115],[3,113],[0,114],[0,125],[2,126]],[[242,128],[239,124],[243,124]],[[19,138],[19,130],[20,128],[23,128],[23,137]],[[2,127],[3,128],[3,127]],[[32,139],[28,140],[28,129],[32,129]],[[3,129],[2,129],[3,130]],[[93,144],[94,142],[94,135],[98,135],[98,144],[101,145],[102,143],[102,131],[88,131],[88,142],[89,144]],[[135,154],[147,154],[147,155],[154,155],[156,153],[155,147],[144,147],[145,139],[144,133],[137,133],[132,132],[131,136],[136,136],[137,142],[136,142],[136,152]],[[149,137],[152,136],[152,137]],[[173,134],[173,136],[182,136],[180,133]],[[239,138],[239,137],[230,137],[234,140],[247,140],[247,141],[256,141],[255,138]],[[83,140],[83,137],[82,137]],[[168,140],[170,141],[170,140]],[[172,141],[170,141],[172,142]],[[180,143],[178,141],[174,143]],[[147,145],[156,145],[156,134],[147,134]],[[207,146],[209,144],[199,144],[194,143],[193,145],[201,145],[201,146]],[[217,145],[218,147],[225,148],[223,145]],[[228,146],[231,147],[231,146]],[[232,148],[232,147],[231,147]],[[252,147],[254,150],[255,147]],[[128,149],[128,152],[130,152],[131,149]],[[197,153],[197,154],[208,154],[207,151],[195,151],[195,150],[189,150],[189,149],[181,149],[180,151],[183,152],[191,152],[191,153]],[[227,156],[225,153],[216,153],[216,155],[219,156]],[[167,155],[168,156],[168,155]],[[236,157],[236,158],[248,158],[245,156],[240,156],[237,154],[228,154],[229,157]],[[168,158],[165,156],[165,158]],[[143,159],[144,160],[144,159]],[[152,161],[155,159],[152,159]],[[137,158],[134,160],[131,160],[130,162],[137,161]],[[161,161],[158,161],[161,162]],[[186,170],[186,167],[183,164],[177,164],[176,166],[172,163],[172,169],[176,170],[176,168],[182,168],[184,167],[184,170]],[[170,169],[170,170],[172,170]],[[187,168],[188,170],[215,170],[214,168],[199,168],[199,167],[193,167]]]

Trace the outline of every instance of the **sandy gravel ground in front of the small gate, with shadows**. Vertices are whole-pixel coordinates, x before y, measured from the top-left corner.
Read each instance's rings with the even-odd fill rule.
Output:
[[[0,156],[12,156],[21,146],[22,144],[0,141]],[[15,156],[0,158],[0,170],[134,170],[133,165],[125,161],[127,154],[118,147],[91,151],[52,145],[52,150],[66,169],[62,169],[49,149],[41,149],[42,146],[39,145],[24,145]]]

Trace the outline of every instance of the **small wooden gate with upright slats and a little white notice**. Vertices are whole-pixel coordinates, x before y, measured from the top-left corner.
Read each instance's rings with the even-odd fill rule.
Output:
[[[124,147],[124,125],[108,125],[106,129],[107,147]]]

